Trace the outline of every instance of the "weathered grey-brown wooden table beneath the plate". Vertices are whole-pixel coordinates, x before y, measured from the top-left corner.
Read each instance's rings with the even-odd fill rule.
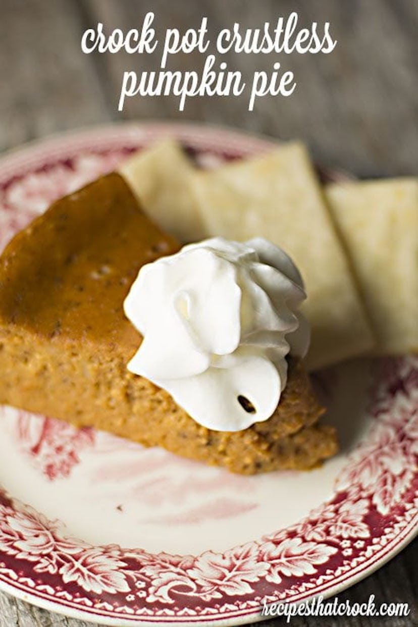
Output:
[[[315,159],[358,176],[417,174],[418,3],[414,0],[1,0],[0,150],[53,132],[120,119],[196,120],[263,132],[280,139],[301,137]],[[129,29],[155,12],[157,36],[165,28],[196,28],[203,15],[209,34],[239,21],[253,27],[291,10],[301,23],[330,21],[338,45],[330,55],[290,55],[285,69],[298,86],[290,98],[259,98],[248,112],[245,98],[190,98],[179,112],[176,98],[130,98],[117,111],[123,70],[157,69],[155,56],[84,55],[81,34],[98,21]],[[230,68],[249,77],[270,70],[274,55],[225,55]],[[177,55],[175,68],[199,67],[197,55]],[[174,65],[171,66],[174,68]],[[174,69],[175,69],[174,68]],[[418,624],[418,543],[415,541],[372,576],[340,594],[362,603],[409,603],[408,618],[383,624]],[[0,593],[0,627],[81,627]],[[282,624],[269,621],[269,625]],[[295,619],[311,627],[310,619]],[[376,625],[371,618],[327,619],[332,626]]]

